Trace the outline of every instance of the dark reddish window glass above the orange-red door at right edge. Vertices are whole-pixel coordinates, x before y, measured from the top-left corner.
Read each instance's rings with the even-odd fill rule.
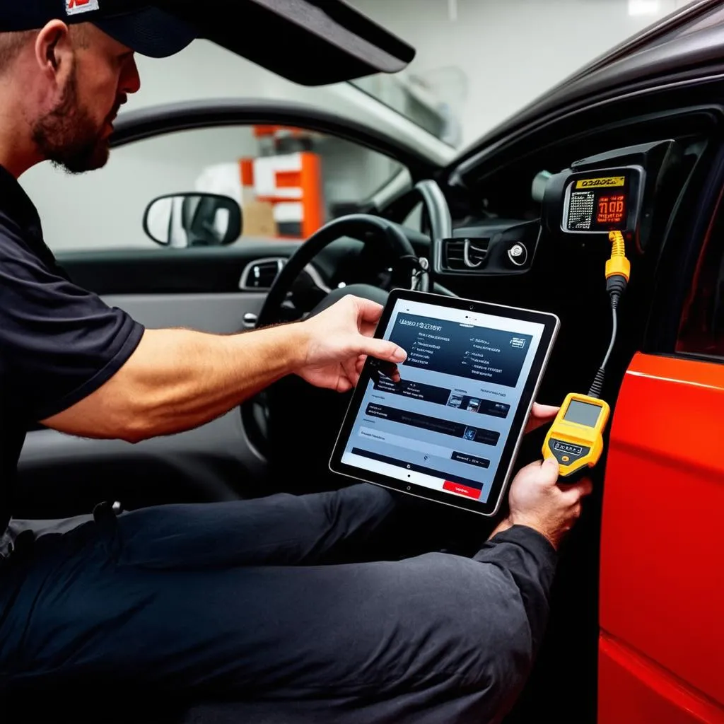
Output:
[[[724,361],[724,214],[717,216],[696,263],[676,351]]]

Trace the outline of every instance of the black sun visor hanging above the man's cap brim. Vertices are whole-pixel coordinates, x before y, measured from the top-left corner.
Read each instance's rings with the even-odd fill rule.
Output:
[[[199,35],[302,85],[403,70],[415,49],[343,0],[156,0]]]

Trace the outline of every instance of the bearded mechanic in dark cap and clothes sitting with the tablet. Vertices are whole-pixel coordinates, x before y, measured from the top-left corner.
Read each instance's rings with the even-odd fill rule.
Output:
[[[0,27],[36,29],[0,35],[1,691],[231,698],[254,722],[500,720],[544,633],[556,549],[591,490],[558,487],[555,461],[518,473],[510,514],[471,559],[329,564],[342,544],[364,550],[397,510],[367,484],[122,515],[100,505],[45,529],[12,519],[35,421],[138,442],[290,374],[347,392],[365,355],[405,352],[371,336],[382,308],[358,298],[216,336],[144,329],[75,286],[17,178],[44,160],[104,166],[114,117],[139,90],[134,51],[168,56],[193,33],[156,9],[90,23],[59,17],[54,0],[4,6]],[[536,406],[529,427],[555,412]]]

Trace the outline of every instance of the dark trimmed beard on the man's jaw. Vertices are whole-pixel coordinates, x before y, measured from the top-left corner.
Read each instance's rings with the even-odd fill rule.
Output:
[[[43,157],[71,174],[94,171],[106,165],[110,145],[104,138],[106,122],[117,114],[120,103],[98,128],[88,109],[78,100],[75,68],[57,106],[33,126],[33,141]]]

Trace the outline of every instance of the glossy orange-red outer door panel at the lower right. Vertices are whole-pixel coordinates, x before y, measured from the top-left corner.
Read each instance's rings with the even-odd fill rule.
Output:
[[[652,721],[652,696],[661,724],[724,722],[723,409],[723,365],[633,358],[606,469],[599,724]]]

